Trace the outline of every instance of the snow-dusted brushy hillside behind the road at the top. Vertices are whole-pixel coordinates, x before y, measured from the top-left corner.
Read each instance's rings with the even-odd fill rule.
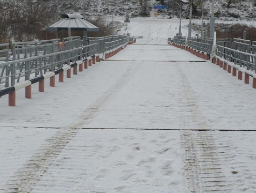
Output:
[[[62,11],[67,12],[81,12],[83,13],[83,4],[85,13],[87,15],[102,15],[111,16],[112,13],[115,16],[124,16],[129,13],[130,16],[140,16],[141,10],[144,9],[144,1],[142,4],[139,0],[63,0],[58,1],[59,7]],[[182,6],[182,17],[189,17],[189,5],[176,0]],[[179,6],[172,0],[165,0],[167,5],[166,10],[154,10],[153,5],[160,5],[159,1],[150,0],[146,1],[148,12],[158,12],[159,17],[163,18],[175,18],[179,17]],[[195,3],[196,4],[196,3]],[[197,13],[194,13],[194,18],[200,18],[202,13],[202,6],[197,5]],[[256,3],[252,0],[245,0],[237,3],[231,3],[230,8],[227,8],[227,1],[216,0],[215,1],[215,17],[225,20],[253,20],[255,19]],[[205,18],[210,17],[211,0],[204,1],[204,14]]]

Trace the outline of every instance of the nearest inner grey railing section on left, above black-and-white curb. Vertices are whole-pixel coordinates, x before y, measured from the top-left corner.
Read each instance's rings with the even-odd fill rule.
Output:
[[[2,63],[0,64],[2,67],[0,84],[5,84],[4,87],[13,86],[23,78],[23,80],[30,80],[31,78],[42,76],[48,71],[60,69],[63,64],[70,65],[70,63],[86,58],[88,55],[87,48],[94,50],[90,54],[98,52],[98,44],[94,43],[57,53]]]

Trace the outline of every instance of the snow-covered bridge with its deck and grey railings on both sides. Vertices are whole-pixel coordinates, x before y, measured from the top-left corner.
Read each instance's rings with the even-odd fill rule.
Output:
[[[157,25],[2,44],[1,192],[255,191],[255,42]]]

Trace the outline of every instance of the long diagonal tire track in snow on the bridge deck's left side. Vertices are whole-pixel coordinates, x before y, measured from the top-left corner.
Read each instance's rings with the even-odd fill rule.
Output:
[[[55,161],[65,146],[77,133],[77,128],[87,124],[86,121],[96,116],[106,101],[110,100],[134,75],[136,65],[129,65],[126,72],[112,85],[110,89],[93,102],[87,110],[80,115],[76,123],[69,125],[70,129],[62,129],[51,138],[47,139],[45,145],[33,154],[30,160],[5,183],[3,193],[31,192],[33,185],[37,184],[47,172],[49,166]]]

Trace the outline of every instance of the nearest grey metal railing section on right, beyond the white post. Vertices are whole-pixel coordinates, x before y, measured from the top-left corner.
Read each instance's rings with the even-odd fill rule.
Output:
[[[256,73],[256,55],[246,53],[224,46],[217,46],[217,56],[224,58],[227,61],[233,62],[240,67],[246,67],[247,70],[252,70]]]

